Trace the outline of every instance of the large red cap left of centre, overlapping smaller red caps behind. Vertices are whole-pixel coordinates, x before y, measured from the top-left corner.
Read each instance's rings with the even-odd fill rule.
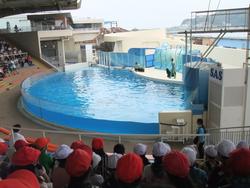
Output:
[[[72,177],[79,177],[84,175],[90,168],[92,156],[85,150],[76,149],[66,161],[66,170]]]

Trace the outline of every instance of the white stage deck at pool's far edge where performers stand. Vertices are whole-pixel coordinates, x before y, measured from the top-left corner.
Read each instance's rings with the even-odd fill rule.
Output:
[[[146,68],[144,72],[135,72],[136,75],[164,83],[183,84],[182,74],[176,73],[176,78],[168,78],[165,70]]]

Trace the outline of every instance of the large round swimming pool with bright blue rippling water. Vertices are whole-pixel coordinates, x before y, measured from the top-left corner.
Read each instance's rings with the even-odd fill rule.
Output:
[[[28,78],[22,95],[24,108],[46,121],[114,134],[157,134],[158,112],[189,108],[182,85],[99,67]]]

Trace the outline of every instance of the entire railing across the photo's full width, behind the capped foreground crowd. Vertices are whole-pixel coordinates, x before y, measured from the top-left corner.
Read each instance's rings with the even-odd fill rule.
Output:
[[[12,130],[12,127],[4,127]],[[108,134],[96,132],[68,131],[68,130],[48,130],[48,129],[30,129],[30,128],[15,128],[22,130],[22,134],[26,137],[49,137],[55,144],[71,143],[74,140],[84,140],[94,137],[102,137],[106,141],[118,143],[154,143],[163,142],[178,142],[183,140],[182,144],[193,144],[192,141],[196,136],[204,136],[205,144],[218,144],[223,139],[229,139],[237,144],[241,140],[245,140],[250,144],[250,127],[235,127],[225,129],[210,129],[207,134]],[[244,130],[244,131],[243,131]],[[212,132],[211,132],[212,131]],[[176,138],[173,139],[173,138]],[[178,138],[178,139],[177,139]],[[188,138],[188,139],[187,139]],[[87,141],[88,142],[88,141]],[[90,141],[89,141],[90,143]]]

